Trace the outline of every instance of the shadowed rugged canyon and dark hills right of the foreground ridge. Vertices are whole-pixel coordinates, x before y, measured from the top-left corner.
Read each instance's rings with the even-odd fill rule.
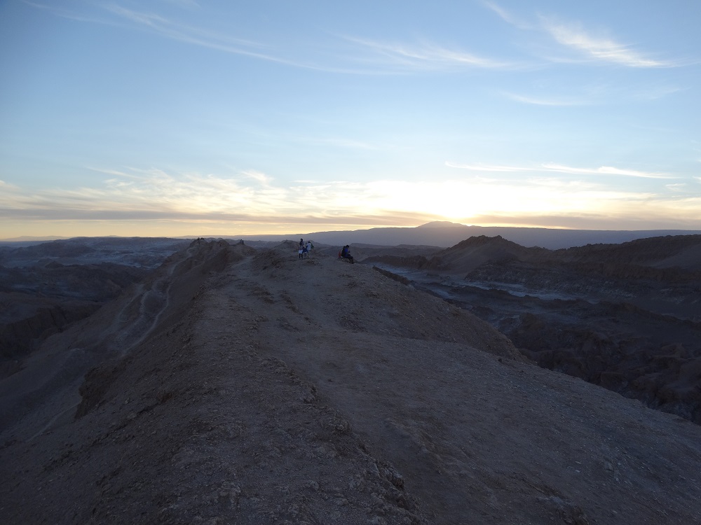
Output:
[[[555,251],[471,237],[428,256],[369,254],[541,366],[701,423],[701,235]]]

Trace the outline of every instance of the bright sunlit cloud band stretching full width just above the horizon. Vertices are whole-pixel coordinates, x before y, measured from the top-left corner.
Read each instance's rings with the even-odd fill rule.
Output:
[[[463,168],[494,172],[543,171],[498,165]],[[596,174],[639,174],[611,167],[573,169],[550,165],[550,169],[554,172],[566,169],[567,172]],[[583,227],[592,221],[637,221],[641,216],[661,221],[665,227],[676,221],[680,228],[701,228],[697,197],[661,197],[644,191],[613,190],[595,181],[567,181],[547,176],[533,176],[517,183],[474,176],[458,180],[369,183],[296,181],[283,185],[255,170],[230,176],[171,174],[155,168],[101,171],[109,174],[109,179],[102,181],[99,187],[0,191],[0,216],[8,219],[7,224],[22,221],[25,225],[36,223],[39,225],[36,228],[45,225],[41,227],[43,230],[35,230],[43,235],[46,235],[46,225],[57,232],[58,223],[129,224],[129,232],[120,230],[120,235],[143,235],[151,231],[147,228],[156,228],[155,224],[161,225],[158,228],[167,225],[172,232],[182,231],[178,230],[179,225],[187,224],[188,233],[211,227],[243,235],[245,231],[262,233],[266,228],[268,232],[279,230],[280,225],[286,225],[290,231],[298,227],[313,231],[344,229],[349,225],[359,228],[363,225],[418,225],[449,219],[463,223],[479,220],[485,224],[491,221],[557,227],[558,218],[562,218],[564,222],[560,226],[576,227],[580,221]],[[603,222],[599,227],[601,225]],[[609,224],[612,226],[613,223]],[[7,232],[8,237],[12,235]],[[57,232],[55,235],[64,234]]]

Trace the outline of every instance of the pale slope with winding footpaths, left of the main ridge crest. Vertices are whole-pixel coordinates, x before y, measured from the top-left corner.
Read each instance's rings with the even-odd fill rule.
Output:
[[[69,332],[47,341],[20,372],[0,383],[0,438],[33,440],[71,421],[81,402],[79,386],[90,367],[123,358],[143,344],[163,318],[172,314],[173,290],[181,296],[175,302],[189,300],[205,278],[201,267],[211,264],[217,253],[217,246],[193,243],[173,255],[154,276],[105,304]],[[194,276],[190,274],[193,269]],[[23,417],[27,421],[15,436],[11,427]]]

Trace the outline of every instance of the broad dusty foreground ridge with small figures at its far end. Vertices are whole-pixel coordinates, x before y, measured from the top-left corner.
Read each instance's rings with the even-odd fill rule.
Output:
[[[286,244],[193,241],[1,387],[10,522],[700,523],[699,426]]]

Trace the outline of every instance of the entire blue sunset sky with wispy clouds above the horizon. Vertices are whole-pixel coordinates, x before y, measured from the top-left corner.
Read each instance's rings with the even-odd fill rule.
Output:
[[[0,0],[0,239],[701,230],[696,0]]]

